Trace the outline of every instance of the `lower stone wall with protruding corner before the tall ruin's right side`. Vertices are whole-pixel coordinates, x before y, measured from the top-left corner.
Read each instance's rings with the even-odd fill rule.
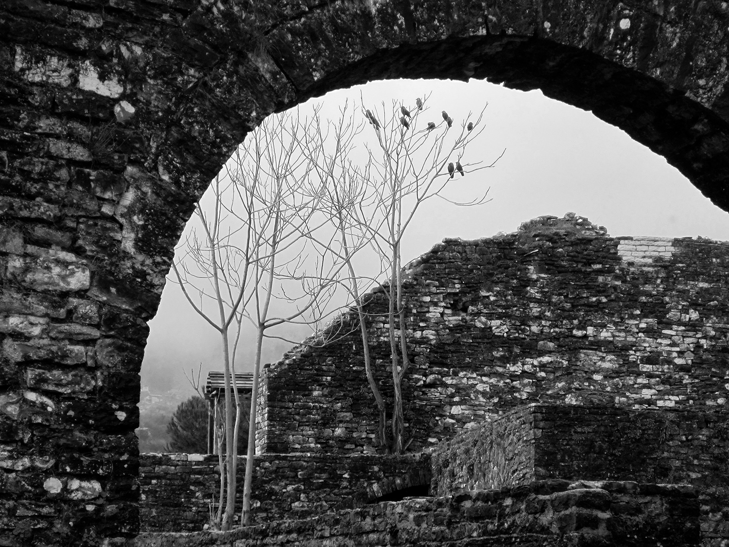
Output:
[[[729,486],[729,412],[534,403],[432,454],[432,493],[547,478]]]

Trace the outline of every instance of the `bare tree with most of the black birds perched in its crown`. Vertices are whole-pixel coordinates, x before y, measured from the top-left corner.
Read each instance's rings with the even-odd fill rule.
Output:
[[[452,201],[444,190],[454,176],[460,178],[466,173],[493,167],[501,157],[499,155],[488,164],[480,161],[461,163],[469,142],[483,131],[483,110],[475,120],[471,120],[469,114],[457,128],[453,128],[453,120],[445,110],[438,123],[432,120],[421,123],[421,118],[428,112],[426,101],[427,97],[425,100],[418,98],[416,105],[410,107],[393,101],[391,109],[383,104],[379,112],[363,106],[378,144],[370,150],[364,175],[377,195],[374,207],[384,220],[383,230],[370,230],[370,233],[378,242],[378,248],[386,251],[389,263],[386,294],[389,300],[387,318],[393,384],[390,447],[395,454],[401,454],[409,444],[405,441],[402,409],[402,379],[410,367],[403,295],[402,239],[418,209],[431,198],[467,206],[486,203],[488,189],[467,203]],[[359,220],[364,226],[370,225],[361,217]],[[375,226],[379,228],[381,225]]]

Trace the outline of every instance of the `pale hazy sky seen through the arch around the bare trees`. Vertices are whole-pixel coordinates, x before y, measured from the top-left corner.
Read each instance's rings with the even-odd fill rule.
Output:
[[[389,80],[338,90],[323,102],[322,117],[338,117],[348,99],[359,106],[391,99],[414,104],[432,93],[432,119],[445,109],[454,125],[469,111],[488,108],[486,131],[470,145],[467,160],[496,158],[494,168],[463,178],[459,185],[491,187],[492,201],[459,208],[444,201],[428,203],[409,229],[403,261],[428,251],[444,237],[475,239],[512,232],[521,222],[544,214],[575,212],[604,225],[612,236],[703,236],[729,240],[729,216],[704,198],[685,176],[642,144],[590,112],[546,98],[541,92],[510,90],[487,82]],[[313,103],[314,101],[310,101]],[[311,108],[303,105],[302,112]],[[365,131],[372,131],[368,126]],[[458,189],[456,188],[456,191]],[[473,195],[473,193],[469,193]],[[142,363],[141,383],[154,392],[185,389],[183,371],[221,370],[222,352],[215,331],[195,315],[179,288],[168,283],[157,317],[152,319]],[[305,331],[294,334],[303,338]],[[275,361],[289,344],[269,348]],[[245,352],[242,356],[246,361]],[[243,371],[251,365],[243,362]],[[192,393],[192,389],[190,389]]]

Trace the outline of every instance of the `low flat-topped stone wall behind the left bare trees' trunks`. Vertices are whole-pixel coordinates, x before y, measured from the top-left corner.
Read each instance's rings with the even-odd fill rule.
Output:
[[[141,454],[139,516],[143,532],[199,531],[217,506],[218,457]],[[243,484],[246,458],[238,459]],[[390,492],[430,484],[428,454],[336,456],[262,454],[252,484],[252,522],[302,519],[355,508]],[[242,487],[238,489],[241,507]]]

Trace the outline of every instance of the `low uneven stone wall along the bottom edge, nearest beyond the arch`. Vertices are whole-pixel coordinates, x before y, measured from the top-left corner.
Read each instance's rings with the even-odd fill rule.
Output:
[[[698,546],[687,486],[544,481],[275,521],[233,532],[141,534],[125,547]]]

